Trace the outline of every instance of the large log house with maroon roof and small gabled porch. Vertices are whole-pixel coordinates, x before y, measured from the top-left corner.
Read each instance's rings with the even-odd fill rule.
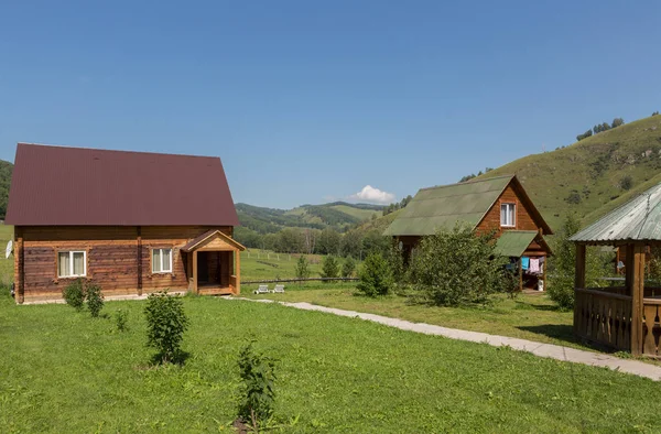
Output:
[[[240,292],[218,158],[19,143],[7,224],[18,303],[59,299],[75,279],[106,296]]]

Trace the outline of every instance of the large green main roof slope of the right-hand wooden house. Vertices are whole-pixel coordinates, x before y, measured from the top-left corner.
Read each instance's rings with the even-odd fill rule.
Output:
[[[386,229],[387,236],[425,236],[453,229],[458,223],[475,228],[512,175],[422,188]]]

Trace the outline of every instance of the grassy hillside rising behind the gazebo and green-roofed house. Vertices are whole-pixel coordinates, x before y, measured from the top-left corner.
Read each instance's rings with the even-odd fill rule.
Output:
[[[651,150],[650,156],[642,156]],[[602,132],[561,150],[528,155],[498,167],[483,177],[516,173],[532,200],[551,227],[557,228],[568,211],[586,217],[584,223],[615,207],[611,200],[642,192],[655,181],[661,169],[661,117],[641,119]],[[629,175],[633,188],[619,187]],[[653,185],[653,184],[652,184]],[[565,199],[572,191],[581,195],[581,203],[570,205]],[[626,196],[626,197],[625,197]]]

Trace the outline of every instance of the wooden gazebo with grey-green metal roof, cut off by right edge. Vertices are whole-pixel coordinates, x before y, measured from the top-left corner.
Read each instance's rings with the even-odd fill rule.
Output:
[[[661,184],[571,238],[576,243],[574,334],[632,355],[661,357],[661,287],[646,284],[646,250],[661,246]],[[625,285],[586,287],[586,246],[625,249]]]

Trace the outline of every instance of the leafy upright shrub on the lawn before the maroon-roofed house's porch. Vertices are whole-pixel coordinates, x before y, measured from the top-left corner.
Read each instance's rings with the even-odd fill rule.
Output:
[[[147,299],[147,345],[159,350],[162,362],[172,361],[180,355],[188,318],[180,297],[167,291],[155,292]]]

